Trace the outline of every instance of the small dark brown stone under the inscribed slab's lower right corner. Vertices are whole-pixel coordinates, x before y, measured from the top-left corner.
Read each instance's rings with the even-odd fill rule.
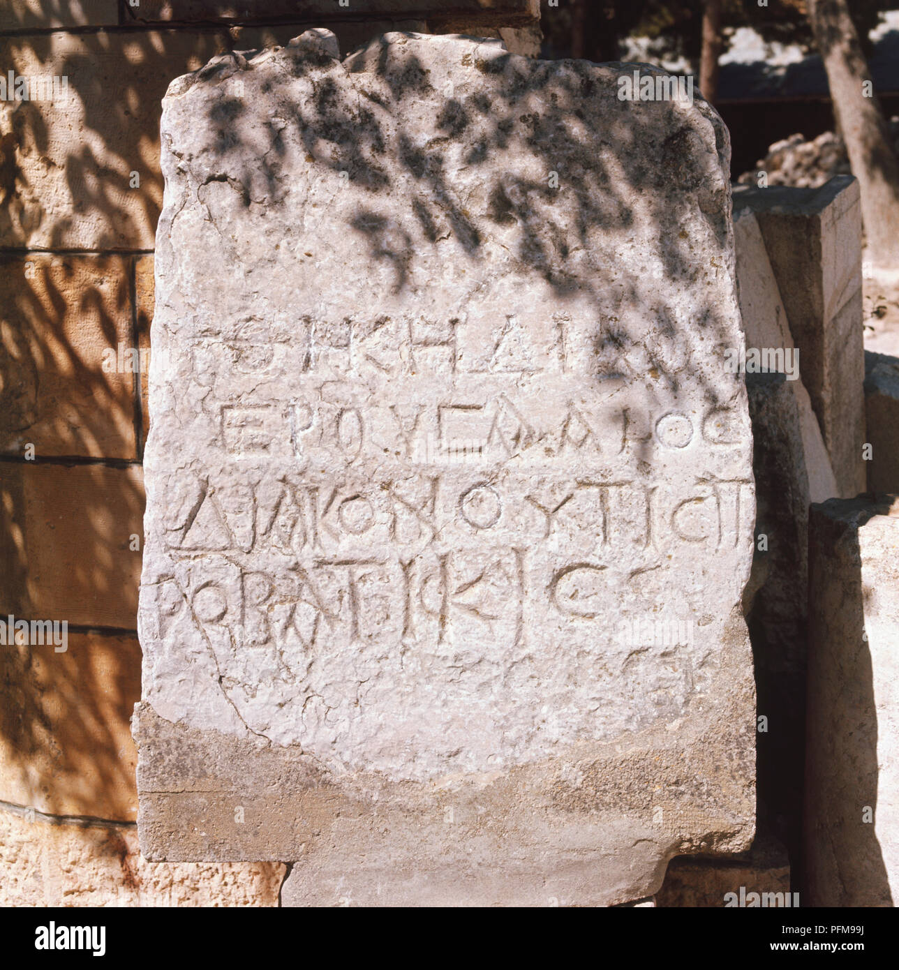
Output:
[[[728,892],[736,892],[739,899],[741,887],[747,896],[751,892],[757,892],[759,896],[761,893],[780,893],[774,901],[784,905],[790,891],[789,860],[779,842],[770,838],[756,839],[749,852],[732,859],[672,859],[665,881],[656,894],[656,905],[659,908],[722,908],[727,903],[725,896]],[[790,895],[790,906],[793,902]],[[801,895],[799,902],[802,903]]]

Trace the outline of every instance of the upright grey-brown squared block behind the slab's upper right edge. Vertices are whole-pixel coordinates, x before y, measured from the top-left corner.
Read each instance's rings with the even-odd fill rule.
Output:
[[[851,176],[734,195],[755,212],[842,498],[865,490],[861,201]]]

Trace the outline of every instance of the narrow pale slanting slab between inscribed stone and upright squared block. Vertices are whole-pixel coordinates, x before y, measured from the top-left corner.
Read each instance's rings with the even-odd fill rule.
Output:
[[[796,345],[789,330],[787,310],[752,210],[734,211],[733,238],[737,255],[740,315],[746,331],[747,348],[794,351]],[[801,356],[796,356],[793,361],[798,361],[799,376],[795,379],[791,377],[787,387],[795,399],[802,434],[801,449],[796,452],[797,456],[801,455],[797,469],[800,466],[804,468],[812,501],[827,501],[837,497],[837,483],[809,392],[802,380],[803,360]]]

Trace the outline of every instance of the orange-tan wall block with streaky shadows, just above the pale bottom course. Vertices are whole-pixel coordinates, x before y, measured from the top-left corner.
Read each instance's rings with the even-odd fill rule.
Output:
[[[136,636],[70,632],[63,646],[0,647],[0,800],[133,822],[129,722],[141,695],[140,644]]]

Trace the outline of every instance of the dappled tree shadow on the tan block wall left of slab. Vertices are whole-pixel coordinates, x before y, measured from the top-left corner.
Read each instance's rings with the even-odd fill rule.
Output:
[[[51,14],[69,14],[67,5],[56,0],[41,6],[36,18],[24,7],[4,16],[20,15],[22,28],[31,28],[43,27]],[[123,397],[121,384],[101,371],[95,354],[86,354],[73,339],[73,318],[80,320],[83,334],[93,335],[113,350],[120,341],[128,348],[139,345],[135,260],[142,250],[134,241],[152,236],[161,211],[163,180],[158,169],[146,164],[145,152],[158,130],[173,63],[183,57],[177,72],[183,73],[191,58],[202,64],[216,47],[233,49],[239,42],[227,30],[88,32],[80,34],[77,52],[59,61],[53,40],[48,33],[12,39],[10,62],[4,65],[4,71],[18,68],[16,54],[27,51],[37,70],[65,77],[68,97],[78,102],[83,113],[86,137],[72,138],[65,147],[63,178],[74,205],[62,215],[55,214],[42,194],[40,179],[32,175],[40,172],[36,166],[59,164],[52,145],[58,137],[53,127],[58,118],[47,115],[56,111],[55,106],[38,101],[4,104],[8,111],[0,120],[0,236],[6,252],[0,255],[0,272],[7,284],[0,297],[4,303],[0,409],[5,418],[0,436],[0,586],[4,591],[0,612],[4,619],[12,613],[16,619],[71,622],[67,616],[47,616],[31,598],[32,591],[40,594],[46,588],[36,571],[38,545],[49,558],[64,558],[67,550],[58,531],[27,528],[26,508],[29,503],[34,507],[36,497],[25,493],[27,479],[20,471],[35,466],[25,463],[22,444],[35,443],[38,461],[59,469],[75,463],[120,469],[140,460],[145,374],[126,376],[130,387]],[[0,43],[6,46],[8,38]],[[129,69],[114,79],[114,86],[107,86],[105,65],[112,52],[120,52],[120,45],[127,49],[123,59]],[[239,98],[223,99],[216,114],[223,139],[245,108]],[[61,113],[64,108],[58,110]],[[131,137],[123,140],[123,132]],[[140,184],[132,185],[132,173]],[[76,213],[89,215],[95,224],[92,248],[83,253],[72,251],[73,237],[78,235]],[[18,242],[35,231],[48,253],[31,254]],[[76,243],[75,248],[80,246]],[[94,250],[117,255],[99,255]],[[86,282],[68,289],[60,275],[79,264],[96,268],[95,278],[87,274]],[[107,288],[101,280],[107,285],[115,280],[116,286]],[[51,401],[48,405],[48,394],[52,397],[60,386],[74,389],[65,412]],[[143,490],[123,471],[121,478],[122,501],[140,516]],[[61,475],[59,483],[59,488],[65,487]],[[52,513],[49,501],[48,520]],[[109,525],[109,510],[102,497],[85,492],[81,515],[80,534],[86,542],[79,550],[68,595],[75,591],[84,601],[119,601],[122,579],[111,566],[110,536],[103,528]],[[136,594],[127,592],[129,598]],[[136,632],[136,616],[127,626]],[[91,646],[78,647],[75,630],[70,630],[70,636],[67,654],[54,654],[52,646],[0,648],[0,746],[15,754],[6,765],[6,777],[13,791],[23,793],[26,805],[41,805],[49,813],[91,816],[98,800],[110,792],[135,787],[133,760],[118,751],[113,727],[127,722],[140,699],[141,654],[137,642],[126,636],[122,640],[126,649],[114,670],[101,674]],[[52,777],[36,770],[42,763],[49,766]],[[84,769],[81,775],[79,766]],[[85,782],[88,777],[93,778],[92,787]],[[123,811],[130,808],[129,804]]]

